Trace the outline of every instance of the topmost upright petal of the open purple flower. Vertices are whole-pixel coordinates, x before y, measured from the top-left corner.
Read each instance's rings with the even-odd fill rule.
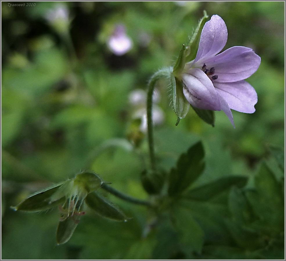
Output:
[[[224,20],[217,14],[206,22],[199,40],[196,63],[204,58],[215,56],[224,48],[227,41],[227,28]]]

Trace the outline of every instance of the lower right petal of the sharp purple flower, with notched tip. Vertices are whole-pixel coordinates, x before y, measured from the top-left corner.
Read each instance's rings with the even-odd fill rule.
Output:
[[[229,104],[229,108],[242,113],[254,113],[257,103],[255,89],[246,81],[229,83],[214,82],[217,92]]]

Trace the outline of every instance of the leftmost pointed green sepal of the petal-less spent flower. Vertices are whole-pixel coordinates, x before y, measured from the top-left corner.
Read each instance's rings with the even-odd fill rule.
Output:
[[[21,211],[29,211],[29,212],[37,212],[43,211],[47,209],[51,209],[55,206],[60,205],[64,202],[65,197],[60,197],[57,200],[51,202],[51,197],[54,193],[56,193],[60,186],[63,184],[58,183],[51,187],[42,189],[30,195],[28,198],[23,200],[17,206],[13,206],[14,210],[21,210]]]

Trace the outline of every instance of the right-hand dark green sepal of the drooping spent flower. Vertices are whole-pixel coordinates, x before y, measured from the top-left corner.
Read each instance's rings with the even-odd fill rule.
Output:
[[[89,193],[85,198],[85,203],[103,218],[114,221],[127,221],[125,214],[107,200],[107,198],[99,195],[99,193]]]

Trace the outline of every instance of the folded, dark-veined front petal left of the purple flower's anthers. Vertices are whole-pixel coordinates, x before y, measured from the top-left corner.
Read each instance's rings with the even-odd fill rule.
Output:
[[[184,73],[183,92],[188,102],[199,109],[220,110],[220,102],[212,81],[200,69]]]

